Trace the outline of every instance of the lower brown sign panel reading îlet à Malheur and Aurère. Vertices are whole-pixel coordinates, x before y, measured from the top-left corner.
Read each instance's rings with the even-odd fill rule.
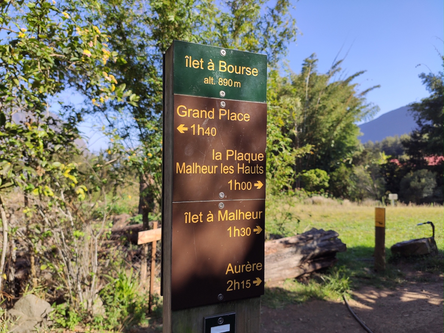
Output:
[[[173,203],[171,308],[264,293],[265,200]]]

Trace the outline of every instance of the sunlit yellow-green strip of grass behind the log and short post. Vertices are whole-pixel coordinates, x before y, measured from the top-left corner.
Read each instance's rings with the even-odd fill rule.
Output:
[[[304,204],[286,200],[274,200],[266,212],[266,231],[274,234],[285,228],[286,232],[299,233],[312,227],[324,230],[332,229],[339,233],[339,238],[348,248],[374,247],[375,208],[357,204],[341,204],[329,201],[328,204]],[[432,221],[435,224],[435,240],[438,248],[444,249],[444,207],[443,206],[397,206],[386,208],[385,244],[389,248],[397,242],[408,239],[430,237],[429,225],[416,226],[417,223]],[[282,216],[289,212],[294,217],[279,224]],[[281,232],[282,233],[282,232]],[[364,255],[364,253],[363,253]],[[368,254],[365,254],[368,255]]]

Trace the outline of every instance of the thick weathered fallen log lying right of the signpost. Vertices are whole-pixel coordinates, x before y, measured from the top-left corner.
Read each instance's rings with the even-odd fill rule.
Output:
[[[311,229],[301,235],[265,243],[265,280],[282,281],[331,267],[347,246],[333,230]]]

